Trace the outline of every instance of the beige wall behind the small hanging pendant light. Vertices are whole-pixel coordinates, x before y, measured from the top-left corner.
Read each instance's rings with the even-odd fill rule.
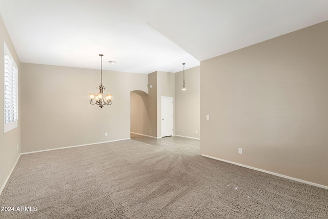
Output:
[[[185,70],[186,90],[184,91],[182,90],[183,71],[175,73],[176,135],[200,138],[199,73],[199,66]]]

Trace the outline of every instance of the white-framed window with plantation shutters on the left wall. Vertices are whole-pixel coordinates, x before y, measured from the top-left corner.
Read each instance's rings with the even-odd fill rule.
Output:
[[[4,133],[18,124],[18,68],[4,42]]]

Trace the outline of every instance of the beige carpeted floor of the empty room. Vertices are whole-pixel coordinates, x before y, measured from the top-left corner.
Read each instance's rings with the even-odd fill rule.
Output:
[[[22,155],[0,218],[328,218],[328,190],[200,156],[197,140],[133,138]]]

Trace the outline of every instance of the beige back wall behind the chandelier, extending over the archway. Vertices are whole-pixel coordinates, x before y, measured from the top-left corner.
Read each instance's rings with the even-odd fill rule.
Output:
[[[147,74],[103,71],[113,104],[100,109],[100,70],[22,63],[22,81],[22,152],[130,138],[130,91],[148,92]]]

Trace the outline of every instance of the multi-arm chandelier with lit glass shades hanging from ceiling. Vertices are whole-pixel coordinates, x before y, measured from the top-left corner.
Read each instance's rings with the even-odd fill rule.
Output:
[[[99,89],[99,93],[95,95],[94,93],[89,93],[90,96],[90,104],[92,105],[98,105],[100,108],[103,108],[105,105],[111,105],[112,104],[112,94],[107,94],[104,96],[104,90],[106,87],[103,86],[103,54],[99,54],[101,65],[100,65],[100,86],[97,87]]]

